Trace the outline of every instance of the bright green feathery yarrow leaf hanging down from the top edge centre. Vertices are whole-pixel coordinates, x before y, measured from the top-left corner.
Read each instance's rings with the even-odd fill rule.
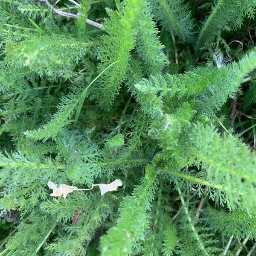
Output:
[[[111,19],[105,20],[105,31],[108,35],[102,37],[101,62],[99,71],[104,70],[109,63],[116,64],[105,73],[99,81],[96,96],[99,104],[105,108],[113,104],[120,85],[125,79],[125,70],[128,67],[130,51],[134,48],[136,23],[140,18],[143,1],[126,1],[121,13],[108,10]],[[103,96],[108,95],[107,97]]]

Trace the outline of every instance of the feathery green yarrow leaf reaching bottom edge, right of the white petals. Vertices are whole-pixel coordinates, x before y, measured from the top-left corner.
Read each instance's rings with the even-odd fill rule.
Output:
[[[156,190],[155,172],[152,166],[146,166],[143,183],[122,202],[116,226],[101,239],[102,255],[129,255],[134,242],[143,240],[147,226],[146,210]]]

